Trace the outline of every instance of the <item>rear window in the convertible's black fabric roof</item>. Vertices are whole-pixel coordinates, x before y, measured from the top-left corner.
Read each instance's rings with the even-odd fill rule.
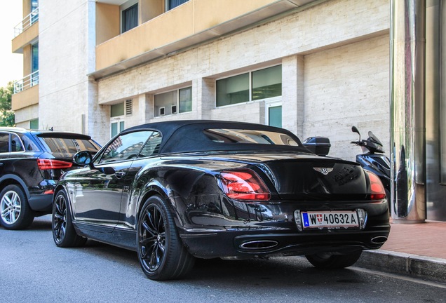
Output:
[[[296,140],[289,135],[269,130],[212,128],[203,130],[203,132],[210,140],[219,143],[299,146]]]

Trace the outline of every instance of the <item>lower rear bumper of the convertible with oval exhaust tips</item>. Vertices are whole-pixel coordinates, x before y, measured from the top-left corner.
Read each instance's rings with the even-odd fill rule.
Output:
[[[268,255],[312,255],[352,253],[381,248],[388,238],[390,224],[366,230],[318,232],[208,231],[181,235],[196,257],[255,257]]]

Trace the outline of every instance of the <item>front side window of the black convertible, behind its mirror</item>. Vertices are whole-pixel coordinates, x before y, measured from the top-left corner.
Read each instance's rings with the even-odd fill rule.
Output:
[[[143,130],[116,137],[104,150],[100,163],[134,159],[140,154],[142,145],[152,133],[152,131]]]

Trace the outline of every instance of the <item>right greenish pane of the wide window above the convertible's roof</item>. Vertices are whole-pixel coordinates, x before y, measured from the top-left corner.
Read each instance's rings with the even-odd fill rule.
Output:
[[[252,72],[252,100],[282,95],[282,65]]]

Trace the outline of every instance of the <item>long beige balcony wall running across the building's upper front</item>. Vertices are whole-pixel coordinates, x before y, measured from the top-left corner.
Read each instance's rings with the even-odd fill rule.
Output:
[[[315,0],[190,0],[96,46],[94,79],[302,10]]]

